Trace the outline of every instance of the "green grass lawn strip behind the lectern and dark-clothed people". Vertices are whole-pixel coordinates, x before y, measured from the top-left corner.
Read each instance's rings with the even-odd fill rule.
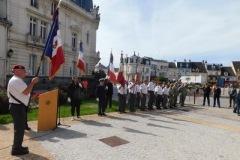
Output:
[[[112,102],[112,108],[107,108],[106,113],[117,112],[118,102]],[[98,113],[98,102],[94,100],[85,100],[80,107],[80,115],[90,115]],[[76,114],[76,113],[75,113]],[[28,121],[38,119],[38,108],[30,108],[28,110]],[[60,117],[71,117],[71,107],[69,103],[60,106]],[[10,114],[0,114],[0,124],[12,123],[13,119]]]

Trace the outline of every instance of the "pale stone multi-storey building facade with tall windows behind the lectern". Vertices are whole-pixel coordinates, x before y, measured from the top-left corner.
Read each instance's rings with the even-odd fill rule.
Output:
[[[58,0],[0,1],[0,86],[6,86],[14,64],[26,67],[27,77],[36,74]],[[99,7],[92,0],[62,0],[59,24],[65,63],[57,79],[81,76],[76,67],[79,42],[83,42],[87,74],[100,60],[96,35]],[[39,76],[48,77],[49,62],[44,60]]]

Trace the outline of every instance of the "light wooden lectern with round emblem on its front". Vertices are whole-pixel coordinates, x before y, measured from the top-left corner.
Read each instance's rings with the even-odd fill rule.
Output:
[[[39,95],[37,131],[57,128],[58,89]]]

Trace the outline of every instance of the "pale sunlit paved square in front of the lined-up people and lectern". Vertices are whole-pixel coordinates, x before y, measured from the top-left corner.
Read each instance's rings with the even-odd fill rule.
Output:
[[[212,100],[212,99],[211,99]],[[25,140],[30,154],[22,159],[60,160],[234,160],[239,159],[239,116],[221,99],[222,108],[201,106],[187,97],[186,106],[177,109],[153,110],[127,114],[111,113],[107,117],[83,116],[82,120],[64,124],[54,131],[34,132]],[[31,124],[34,128],[34,124]],[[126,144],[111,147],[100,139],[118,137]],[[40,145],[44,154],[34,150]],[[113,139],[111,144],[118,144]],[[11,144],[11,143],[10,143]],[[0,144],[1,146],[1,144]],[[8,156],[6,156],[8,152]],[[11,157],[9,147],[0,147],[0,157]],[[48,154],[48,155],[45,155]],[[0,158],[0,159],[3,159]]]

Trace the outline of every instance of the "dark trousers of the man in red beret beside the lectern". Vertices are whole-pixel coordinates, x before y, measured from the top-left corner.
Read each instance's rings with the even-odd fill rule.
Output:
[[[14,138],[13,147],[22,146],[24,130],[26,125],[26,107],[23,105],[10,104],[9,111],[13,118]]]

